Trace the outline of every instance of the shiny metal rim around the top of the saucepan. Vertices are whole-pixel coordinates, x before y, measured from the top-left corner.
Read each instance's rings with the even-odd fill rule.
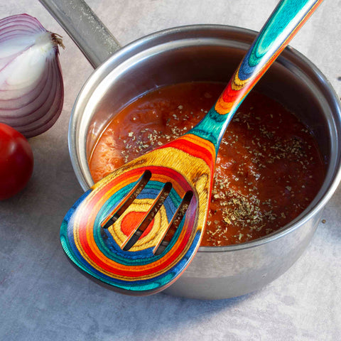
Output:
[[[89,185],[87,184],[87,181],[85,180],[82,174],[82,168],[77,158],[79,153],[77,152],[76,144],[73,143],[73,141],[75,141],[75,125],[76,125],[75,123],[77,121],[76,113],[77,113],[77,105],[87,98],[87,90],[90,90],[92,87],[98,84],[97,76],[102,75],[104,73],[104,70],[107,70],[107,66],[110,63],[112,63],[113,59],[117,59],[121,55],[124,55],[125,53],[129,53],[129,50],[134,51],[134,49],[138,48],[139,45],[142,45],[146,42],[148,43],[149,41],[152,41],[158,38],[159,36],[171,35],[173,33],[178,33],[178,32],[185,33],[187,31],[195,32],[195,31],[205,30],[208,32],[208,31],[216,31],[217,29],[228,31],[230,33],[237,32],[237,33],[244,33],[247,35],[256,35],[257,33],[256,31],[250,30],[248,28],[242,28],[239,26],[220,25],[220,24],[195,24],[195,25],[185,25],[185,26],[176,26],[173,28],[167,28],[161,31],[156,31],[154,33],[148,34],[147,36],[141,37],[129,43],[128,45],[125,45],[123,48],[121,48],[116,53],[114,53],[114,55],[112,55],[110,58],[104,61],[102,65],[99,65],[99,67],[97,67],[97,69],[94,70],[94,72],[92,72],[92,74],[90,75],[90,77],[87,79],[82,89],[80,90],[79,94],[77,95],[75,104],[72,107],[72,112],[70,114],[70,123],[69,123],[69,129],[68,129],[68,146],[69,146],[70,159],[71,159],[72,167],[77,177],[77,180],[80,183],[83,190],[87,190],[89,188]],[[325,87],[325,90],[327,90],[327,92],[330,94],[330,97],[332,98],[332,101],[334,102],[335,107],[337,108],[337,113],[339,117],[341,117],[340,99],[337,96],[332,85],[330,85],[330,82],[328,81],[327,77],[323,75],[323,72],[321,72],[320,69],[314,63],[312,63],[308,58],[306,58],[302,53],[300,53],[295,48],[292,48],[290,45],[286,47],[286,49],[282,52],[282,55],[285,52],[289,52],[293,56],[293,58],[298,60],[300,63],[307,65],[307,67],[311,70],[313,75],[320,80],[320,83],[323,84],[323,86]],[[323,186],[320,189],[320,191],[324,190],[325,193],[323,193],[322,197],[320,197],[320,200],[318,200],[318,202],[315,203],[315,205],[312,206],[313,202],[310,203],[310,205],[301,213],[301,215],[296,217],[295,220],[281,227],[281,229],[277,230],[276,232],[273,232],[265,237],[254,239],[250,242],[245,242],[242,244],[231,244],[231,245],[222,246],[222,247],[199,247],[197,252],[216,253],[216,252],[226,252],[226,251],[238,251],[242,249],[251,249],[253,247],[258,247],[260,245],[273,242],[274,240],[284,237],[286,234],[289,234],[293,232],[294,230],[298,229],[299,227],[301,227],[308,220],[310,220],[314,215],[316,215],[320,210],[322,210],[323,207],[330,200],[332,195],[335,193],[335,190],[337,189],[337,186],[339,185],[341,181],[340,149],[341,149],[340,139],[337,139],[336,156],[338,156],[338,158],[337,158],[337,162],[335,163],[335,170],[333,174],[331,175],[332,178],[328,186],[324,188],[324,185],[325,185],[325,182],[324,182]],[[328,171],[326,175],[327,174],[328,174]],[[320,191],[318,195],[320,195]]]

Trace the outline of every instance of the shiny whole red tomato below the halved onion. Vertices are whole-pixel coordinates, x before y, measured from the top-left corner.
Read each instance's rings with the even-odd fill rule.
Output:
[[[33,153],[26,138],[0,123],[0,200],[22,190],[33,172]]]

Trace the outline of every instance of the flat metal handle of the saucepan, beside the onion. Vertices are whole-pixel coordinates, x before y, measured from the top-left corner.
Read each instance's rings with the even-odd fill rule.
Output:
[[[96,68],[121,48],[83,0],[39,0]]]

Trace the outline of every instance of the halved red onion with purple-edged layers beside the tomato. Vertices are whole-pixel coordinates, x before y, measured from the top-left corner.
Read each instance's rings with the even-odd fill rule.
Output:
[[[55,33],[28,14],[0,20],[0,122],[26,137],[48,130],[63,108]]]

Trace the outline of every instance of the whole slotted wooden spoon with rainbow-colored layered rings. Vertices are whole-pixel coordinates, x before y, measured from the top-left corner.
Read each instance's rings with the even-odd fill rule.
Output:
[[[229,121],[321,2],[281,1],[197,126],[126,163],[77,200],[60,239],[79,269],[132,295],[157,293],[183,273],[202,239],[215,159]],[[175,233],[165,243],[170,229]]]

